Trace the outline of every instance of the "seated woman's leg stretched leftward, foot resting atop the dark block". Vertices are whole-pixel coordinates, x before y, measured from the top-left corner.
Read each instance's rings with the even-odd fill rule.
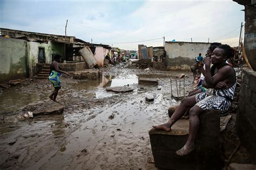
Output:
[[[183,98],[183,100],[181,100],[179,107],[174,111],[169,121],[165,124],[153,126],[153,128],[165,130],[167,132],[171,131],[172,125],[185,114],[187,108],[193,107],[194,104],[196,104],[196,96]]]

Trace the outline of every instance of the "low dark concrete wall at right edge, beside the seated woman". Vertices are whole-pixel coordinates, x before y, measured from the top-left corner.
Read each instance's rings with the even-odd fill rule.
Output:
[[[242,145],[256,164],[256,72],[244,69],[238,101],[237,131]]]

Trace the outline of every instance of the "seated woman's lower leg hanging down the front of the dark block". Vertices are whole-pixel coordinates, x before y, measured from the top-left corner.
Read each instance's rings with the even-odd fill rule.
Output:
[[[194,105],[194,107],[190,109],[190,130],[187,142],[180,150],[176,152],[178,155],[186,155],[194,150],[194,139],[196,138],[200,124],[198,116],[202,112],[204,112],[204,110],[199,108],[197,105]]]

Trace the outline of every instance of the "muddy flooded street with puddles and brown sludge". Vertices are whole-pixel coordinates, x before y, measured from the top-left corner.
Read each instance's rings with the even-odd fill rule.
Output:
[[[64,105],[63,114],[0,124],[0,168],[156,169],[148,132],[152,125],[167,120],[169,106],[178,104],[170,88],[170,78],[177,74],[117,65],[103,68],[104,76],[99,80],[62,77],[57,101]],[[188,91],[193,76],[184,74],[189,75]],[[140,77],[158,79],[159,83],[141,85]],[[133,91],[106,91],[119,86]],[[13,116],[27,104],[49,101],[52,90],[45,79],[3,89],[0,116]],[[147,102],[147,96],[153,96],[154,101]]]

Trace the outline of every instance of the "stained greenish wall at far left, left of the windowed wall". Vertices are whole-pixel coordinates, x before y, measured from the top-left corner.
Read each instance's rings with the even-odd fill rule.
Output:
[[[26,41],[0,37],[0,82],[28,76]]]

